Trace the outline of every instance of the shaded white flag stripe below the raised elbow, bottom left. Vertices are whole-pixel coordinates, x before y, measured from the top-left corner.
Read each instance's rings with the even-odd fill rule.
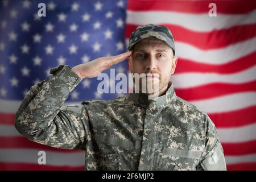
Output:
[[[38,152],[32,149],[0,149],[0,162],[38,164]],[[46,164],[51,166],[84,166],[85,152],[46,152]]]

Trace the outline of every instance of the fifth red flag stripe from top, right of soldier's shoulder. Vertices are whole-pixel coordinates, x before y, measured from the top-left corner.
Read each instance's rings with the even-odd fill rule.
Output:
[[[218,128],[241,127],[256,122],[256,106],[223,113],[208,114]]]

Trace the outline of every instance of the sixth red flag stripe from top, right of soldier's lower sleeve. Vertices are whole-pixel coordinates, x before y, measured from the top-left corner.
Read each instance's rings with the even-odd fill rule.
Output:
[[[247,155],[256,154],[256,140],[249,142],[238,142],[238,143],[223,143],[221,145],[224,149],[224,155]]]

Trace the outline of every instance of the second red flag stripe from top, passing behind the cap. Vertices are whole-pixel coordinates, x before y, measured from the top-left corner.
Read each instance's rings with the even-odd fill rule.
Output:
[[[256,36],[256,24],[246,24],[210,32],[197,32],[174,24],[161,24],[172,31],[176,42],[188,43],[203,50],[226,47]],[[126,24],[126,39],[130,38],[137,26]]]

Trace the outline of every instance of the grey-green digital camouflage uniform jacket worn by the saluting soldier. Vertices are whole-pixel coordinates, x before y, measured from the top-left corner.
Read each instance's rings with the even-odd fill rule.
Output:
[[[216,127],[177,97],[131,93],[109,101],[63,106],[81,78],[67,65],[31,86],[16,117],[24,137],[57,148],[85,150],[86,170],[226,170]]]

